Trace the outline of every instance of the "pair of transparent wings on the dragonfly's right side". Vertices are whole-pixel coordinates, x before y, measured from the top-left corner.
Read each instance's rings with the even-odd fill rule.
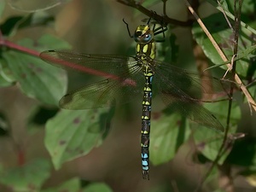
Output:
[[[166,105],[201,125],[224,131],[218,119],[199,103],[200,96],[197,91],[207,92],[207,90],[204,89],[196,73],[189,73],[161,61],[156,61],[156,64],[158,66],[154,70],[155,84]],[[192,88],[195,88],[195,92]]]

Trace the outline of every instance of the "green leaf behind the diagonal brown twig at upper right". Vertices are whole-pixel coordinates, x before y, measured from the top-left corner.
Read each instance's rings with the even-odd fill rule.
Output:
[[[207,29],[209,32],[211,32],[212,37],[217,42],[218,46],[224,51],[224,55],[228,57],[228,60],[231,60],[233,55],[233,33],[230,30],[229,26],[226,23],[226,20],[224,20],[224,16],[222,14],[215,14],[211,15],[205,19],[203,19],[204,24],[207,26]],[[197,44],[201,45],[201,48],[203,49],[204,53],[207,55],[207,57],[212,61],[214,64],[220,64],[223,63],[223,60],[218,55],[217,50],[213,47],[210,40],[207,38],[206,34],[202,31],[201,27],[196,24],[193,26],[192,29],[195,41]],[[238,49],[243,51],[247,49],[245,47],[246,45],[251,44],[251,36],[252,32],[248,32],[246,29],[241,29],[241,36],[239,39]],[[236,71],[240,75],[246,76],[247,74],[247,67],[249,66],[248,61],[250,59],[249,54],[244,55],[244,58],[242,60],[237,61],[236,65]],[[227,67],[222,66],[224,69],[227,69]]]

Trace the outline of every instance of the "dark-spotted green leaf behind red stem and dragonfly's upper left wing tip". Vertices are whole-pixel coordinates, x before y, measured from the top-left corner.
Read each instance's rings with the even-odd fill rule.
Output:
[[[31,39],[23,39],[19,44],[38,50],[69,48],[67,43],[49,35],[39,38],[37,43]],[[47,104],[58,105],[61,96],[67,90],[67,75],[63,70],[46,64],[38,57],[14,50],[3,52],[3,58],[26,96],[37,98]]]

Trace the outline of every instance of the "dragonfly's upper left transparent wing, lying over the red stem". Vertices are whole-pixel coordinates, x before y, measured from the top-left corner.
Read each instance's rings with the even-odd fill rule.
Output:
[[[112,78],[111,74],[125,73],[130,63],[137,63],[135,57],[131,56],[84,54],[69,50],[46,50],[40,57],[55,67],[108,78]]]

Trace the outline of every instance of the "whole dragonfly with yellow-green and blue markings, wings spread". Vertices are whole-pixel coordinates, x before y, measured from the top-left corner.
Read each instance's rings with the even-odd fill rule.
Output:
[[[73,90],[59,102],[61,108],[79,110],[106,108],[133,101],[142,96],[141,156],[143,178],[149,180],[149,134],[152,96],[160,95],[166,106],[195,122],[224,131],[216,117],[200,104],[201,97],[193,96],[193,90],[205,90],[201,77],[168,62],[155,59],[155,36],[166,31],[166,26],[152,27],[152,23],[137,26],[134,34],[136,55],[84,54],[70,50],[46,50],[41,59],[55,67],[93,73],[106,79]],[[150,28],[151,26],[151,28]],[[114,101],[114,102],[113,102]]]

